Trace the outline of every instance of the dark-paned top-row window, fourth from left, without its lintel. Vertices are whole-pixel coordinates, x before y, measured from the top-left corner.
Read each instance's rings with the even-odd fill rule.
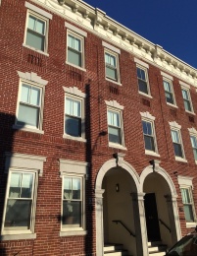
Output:
[[[139,92],[149,95],[147,70],[137,66],[137,79]]]

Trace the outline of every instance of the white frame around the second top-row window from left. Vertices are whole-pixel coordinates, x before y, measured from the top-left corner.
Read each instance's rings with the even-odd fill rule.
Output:
[[[80,56],[81,56],[81,65],[75,65],[74,63],[70,62],[68,57],[69,57],[69,35],[74,36],[75,38],[77,38],[78,40],[80,40]],[[84,36],[71,31],[71,30],[67,30],[67,64],[74,66],[75,68],[81,69],[85,71],[85,54],[84,54]]]

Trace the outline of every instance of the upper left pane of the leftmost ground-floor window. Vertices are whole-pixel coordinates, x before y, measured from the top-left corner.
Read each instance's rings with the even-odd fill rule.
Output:
[[[10,179],[10,198],[20,198],[22,174],[13,172]]]

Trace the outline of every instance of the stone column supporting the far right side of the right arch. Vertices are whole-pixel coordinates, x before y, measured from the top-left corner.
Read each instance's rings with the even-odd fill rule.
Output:
[[[177,211],[177,201],[176,195],[166,195],[165,196],[168,205],[169,211],[169,220],[171,224],[171,233],[172,233],[172,244],[178,241],[181,238],[180,224]]]

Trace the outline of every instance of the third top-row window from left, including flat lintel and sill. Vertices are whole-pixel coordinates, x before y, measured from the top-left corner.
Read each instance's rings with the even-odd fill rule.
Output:
[[[121,83],[119,66],[119,54],[121,51],[105,41],[102,44],[105,47],[105,77],[107,80]]]

